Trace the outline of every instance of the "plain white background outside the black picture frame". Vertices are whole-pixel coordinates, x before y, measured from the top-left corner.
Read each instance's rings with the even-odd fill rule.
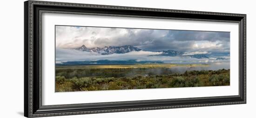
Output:
[[[253,118],[256,115],[256,14],[253,0],[52,0],[130,7],[152,7],[247,14],[247,104],[153,111],[130,111],[56,118]],[[23,0],[4,0],[0,7],[0,118],[23,117]]]

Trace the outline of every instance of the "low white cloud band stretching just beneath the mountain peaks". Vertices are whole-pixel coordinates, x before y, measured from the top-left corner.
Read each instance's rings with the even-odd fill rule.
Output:
[[[198,52],[195,52],[198,53]],[[205,52],[204,52],[205,53]],[[162,61],[164,63],[172,64],[197,64],[197,63],[213,63],[213,62],[229,62],[229,59],[216,60],[216,59],[195,59],[189,56],[157,56],[162,52],[128,52],[122,54],[100,55],[95,52],[81,52],[74,49],[61,49],[56,48],[56,63],[67,61],[93,61],[93,60],[137,60],[137,61]],[[156,56],[151,56],[156,55]],[[226,57],[227,58],[227,57]]]

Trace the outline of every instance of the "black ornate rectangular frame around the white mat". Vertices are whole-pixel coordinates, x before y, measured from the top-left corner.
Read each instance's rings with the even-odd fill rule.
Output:
[[[71,105],[41,105],[41,13],[68,13],[239,23],[239,95]],[[246,103],[246,14],[119,7],[48,1],[24,2],[24,116],[47,117]]]

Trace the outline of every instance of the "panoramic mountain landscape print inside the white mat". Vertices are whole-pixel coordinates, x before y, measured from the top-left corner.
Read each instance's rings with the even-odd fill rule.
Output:
[[[230,85],[230,33],[55,26],[55,92]]]

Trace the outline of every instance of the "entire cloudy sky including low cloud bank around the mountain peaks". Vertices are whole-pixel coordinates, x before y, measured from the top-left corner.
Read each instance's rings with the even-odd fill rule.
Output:
[[[130,60],[162,61],[164,63],[229,63],[229,33],[185,30],[153,30],[85,26],[56,26],[56,63],[67,61]],[[82,45],[91,47],[132,45],[138,52],[101,55],[75,50]],[[183,56],[161,56],[162,50],[183,52]],[[220,55],[224,53],[224,55]],[[211,54],[209,59],[186,55]],[[152,56],[155,55],[155,56]],[[225,58],[225,60],[216,60]]]

